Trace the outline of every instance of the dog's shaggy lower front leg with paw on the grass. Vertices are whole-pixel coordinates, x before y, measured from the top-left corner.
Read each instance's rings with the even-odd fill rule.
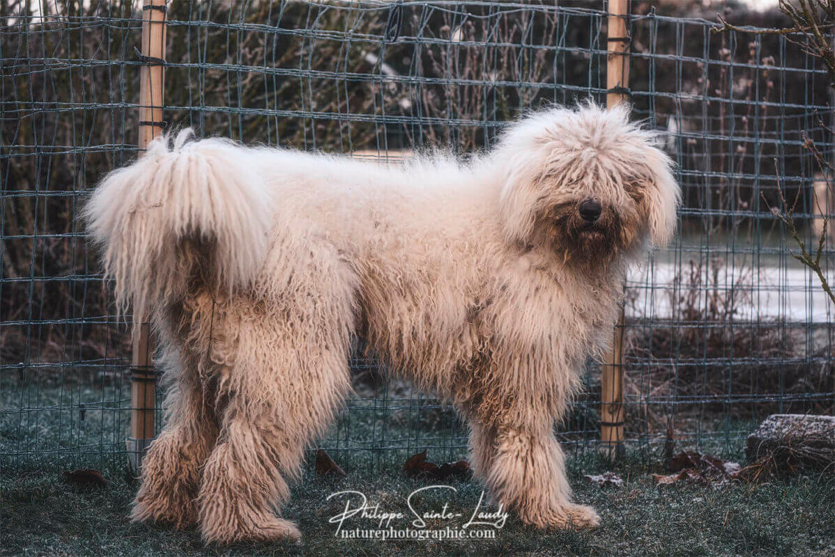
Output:
[[[537,428],[499,426],[495,454],[486,474],[499,502],[524,522],[539,528],[594,528],[600,516],[591,507],[571,502],[564,455],[553,424]]]

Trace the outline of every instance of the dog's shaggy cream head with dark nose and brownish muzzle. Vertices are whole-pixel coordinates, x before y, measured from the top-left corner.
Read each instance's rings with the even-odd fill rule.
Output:
[[[550,108],[514,124],[498,147],[509,241],[596,266],[676,228],[681,190],[653,133],[628,108]]]

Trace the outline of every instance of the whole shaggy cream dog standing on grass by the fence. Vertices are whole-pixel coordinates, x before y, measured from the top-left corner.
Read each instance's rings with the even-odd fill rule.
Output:
[[[191,135],[152,143],[86,208],[170,381],[134,519],[298,539],[287,480],[349,394],[358,335],[468,421],[495,501],[543,528],[600,522],[571,500],[554,422],[680,198],[626,108],[548,108],[467,161],[388,167]]]

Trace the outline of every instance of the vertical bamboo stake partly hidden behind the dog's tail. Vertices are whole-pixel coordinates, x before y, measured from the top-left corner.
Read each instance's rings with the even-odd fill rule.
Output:
[[[163,84],[165,78],[165,0],[144,0],[142,6],[142,58],[139,68],[139,149],[143,150],[163,128]],[[154,344],[147,323],[134,334],[130,374],[130,437],[128,459],[134,472],[154,439],[156,373]]]

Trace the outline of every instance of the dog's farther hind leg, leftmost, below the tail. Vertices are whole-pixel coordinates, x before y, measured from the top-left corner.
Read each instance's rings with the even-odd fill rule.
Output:
[[[142,462],[142,484],[131,513],[134,520],[169,522],[178,529],[197,521],[200,466],[215,445],[217,426],[192,377],[180,370],[169,394],[168,422]]]

